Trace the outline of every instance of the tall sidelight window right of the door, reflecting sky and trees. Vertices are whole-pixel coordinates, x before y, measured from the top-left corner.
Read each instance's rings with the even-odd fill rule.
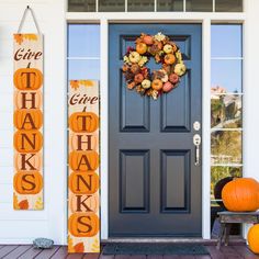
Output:
[[[221,191],[243,176],[243,26],[211,27],[211,216],[224,210]],[[238,228],[238,227],[237,227]],[[238,234],[238,229],[233,229]]]

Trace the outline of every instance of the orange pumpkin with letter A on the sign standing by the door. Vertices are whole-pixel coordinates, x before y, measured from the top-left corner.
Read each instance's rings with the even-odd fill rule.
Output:
[[[99,155],[95,151],[71,151],[69,166],[74,171],[94,171],[99,167]]]

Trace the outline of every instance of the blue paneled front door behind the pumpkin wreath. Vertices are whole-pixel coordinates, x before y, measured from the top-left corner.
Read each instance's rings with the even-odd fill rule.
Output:
[[[201,25],[109,30],[109,236],[201,236],[202,168],[193,145],[193,135],[201,134],[193,123],[202,119]],[[127,90],[121,67],[136,37],[158,32],[180,46],[188,72],[155,101]],[[154,60],[147,66],[160,67]]]

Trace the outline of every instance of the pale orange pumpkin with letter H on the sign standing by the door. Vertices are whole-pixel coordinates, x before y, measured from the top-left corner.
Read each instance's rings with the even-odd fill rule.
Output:
[[[99,137],[98,134],[88,134],[88,133],[71,133],[70,134],[70,147],[71,150],[98,150],[99,149]],[[78,144],[81,144],[79,146]],[[89,143],[87,143],[89,142]]]

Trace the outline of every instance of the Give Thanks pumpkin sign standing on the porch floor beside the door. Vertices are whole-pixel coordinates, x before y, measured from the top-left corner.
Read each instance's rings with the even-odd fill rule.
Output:
[[[68,106],[68,252],[100,252],[98,81],[71,80]]]

